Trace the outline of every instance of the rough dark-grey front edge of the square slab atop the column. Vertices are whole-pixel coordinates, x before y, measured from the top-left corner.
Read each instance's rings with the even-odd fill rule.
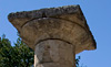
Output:
[[[20,18],[29,18],[29,19],[49,18],[49,16],[56,16],[56,15],[61,15],[61,14],[75,13],[79,10],[80,10],[80,5],[44,8],[44,9],[33,10],[33,11],[22,11],[22,12],[10,13],[8,15],[8,19],[9,21],[11,21],[13,19],[20,19]]]

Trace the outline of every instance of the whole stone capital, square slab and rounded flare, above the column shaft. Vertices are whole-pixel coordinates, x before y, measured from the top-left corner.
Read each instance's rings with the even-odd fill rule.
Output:
[[[95,49],[95,41],[79,5],[10,13],[9,21],[32,48],[46,40],[61,40],[75,46],[75,54]]]

